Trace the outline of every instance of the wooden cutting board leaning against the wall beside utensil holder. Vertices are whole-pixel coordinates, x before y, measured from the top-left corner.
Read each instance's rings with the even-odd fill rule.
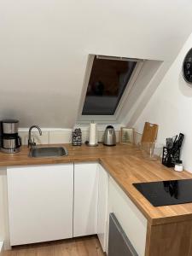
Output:
[[[157,138],[158,125],[145,123],[143,129],[142,143],[154,143]]]

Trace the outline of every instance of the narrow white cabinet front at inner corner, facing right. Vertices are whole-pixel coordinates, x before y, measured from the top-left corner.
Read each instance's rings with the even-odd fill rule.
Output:
[[[107,249],[108,235],[108,172],[98,165],[98,216],[97,216],[97,236],[102,245],[103,252]]]

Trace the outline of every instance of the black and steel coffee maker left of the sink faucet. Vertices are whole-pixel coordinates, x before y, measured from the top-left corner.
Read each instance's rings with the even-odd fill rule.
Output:
[[[4,153],[20,152],[21,138],[18,135],[19,121],[4,119],[1,121],[1,151]]]

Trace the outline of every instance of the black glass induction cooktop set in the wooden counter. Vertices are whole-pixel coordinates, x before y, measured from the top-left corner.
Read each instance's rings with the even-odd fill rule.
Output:
[[[135,186],[154,207],[192,202],[192,179],[133,183],[133,186]]]

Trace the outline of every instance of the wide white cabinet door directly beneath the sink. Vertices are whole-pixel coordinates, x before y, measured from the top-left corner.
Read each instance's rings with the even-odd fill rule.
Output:
[[[73,236],[73,164],[8,168],[11,245]]]

